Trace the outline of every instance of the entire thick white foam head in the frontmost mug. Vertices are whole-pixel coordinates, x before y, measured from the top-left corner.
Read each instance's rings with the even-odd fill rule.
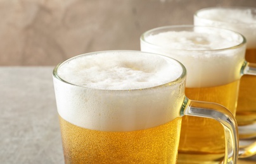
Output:
[[[184,83],[153,86],[181,74],[178,62],[142,52],[76,57],[58,69],[58,76],[74,85],[54,78],[58,113],[76,126],[98,131],[160,126],[179,117]]]

